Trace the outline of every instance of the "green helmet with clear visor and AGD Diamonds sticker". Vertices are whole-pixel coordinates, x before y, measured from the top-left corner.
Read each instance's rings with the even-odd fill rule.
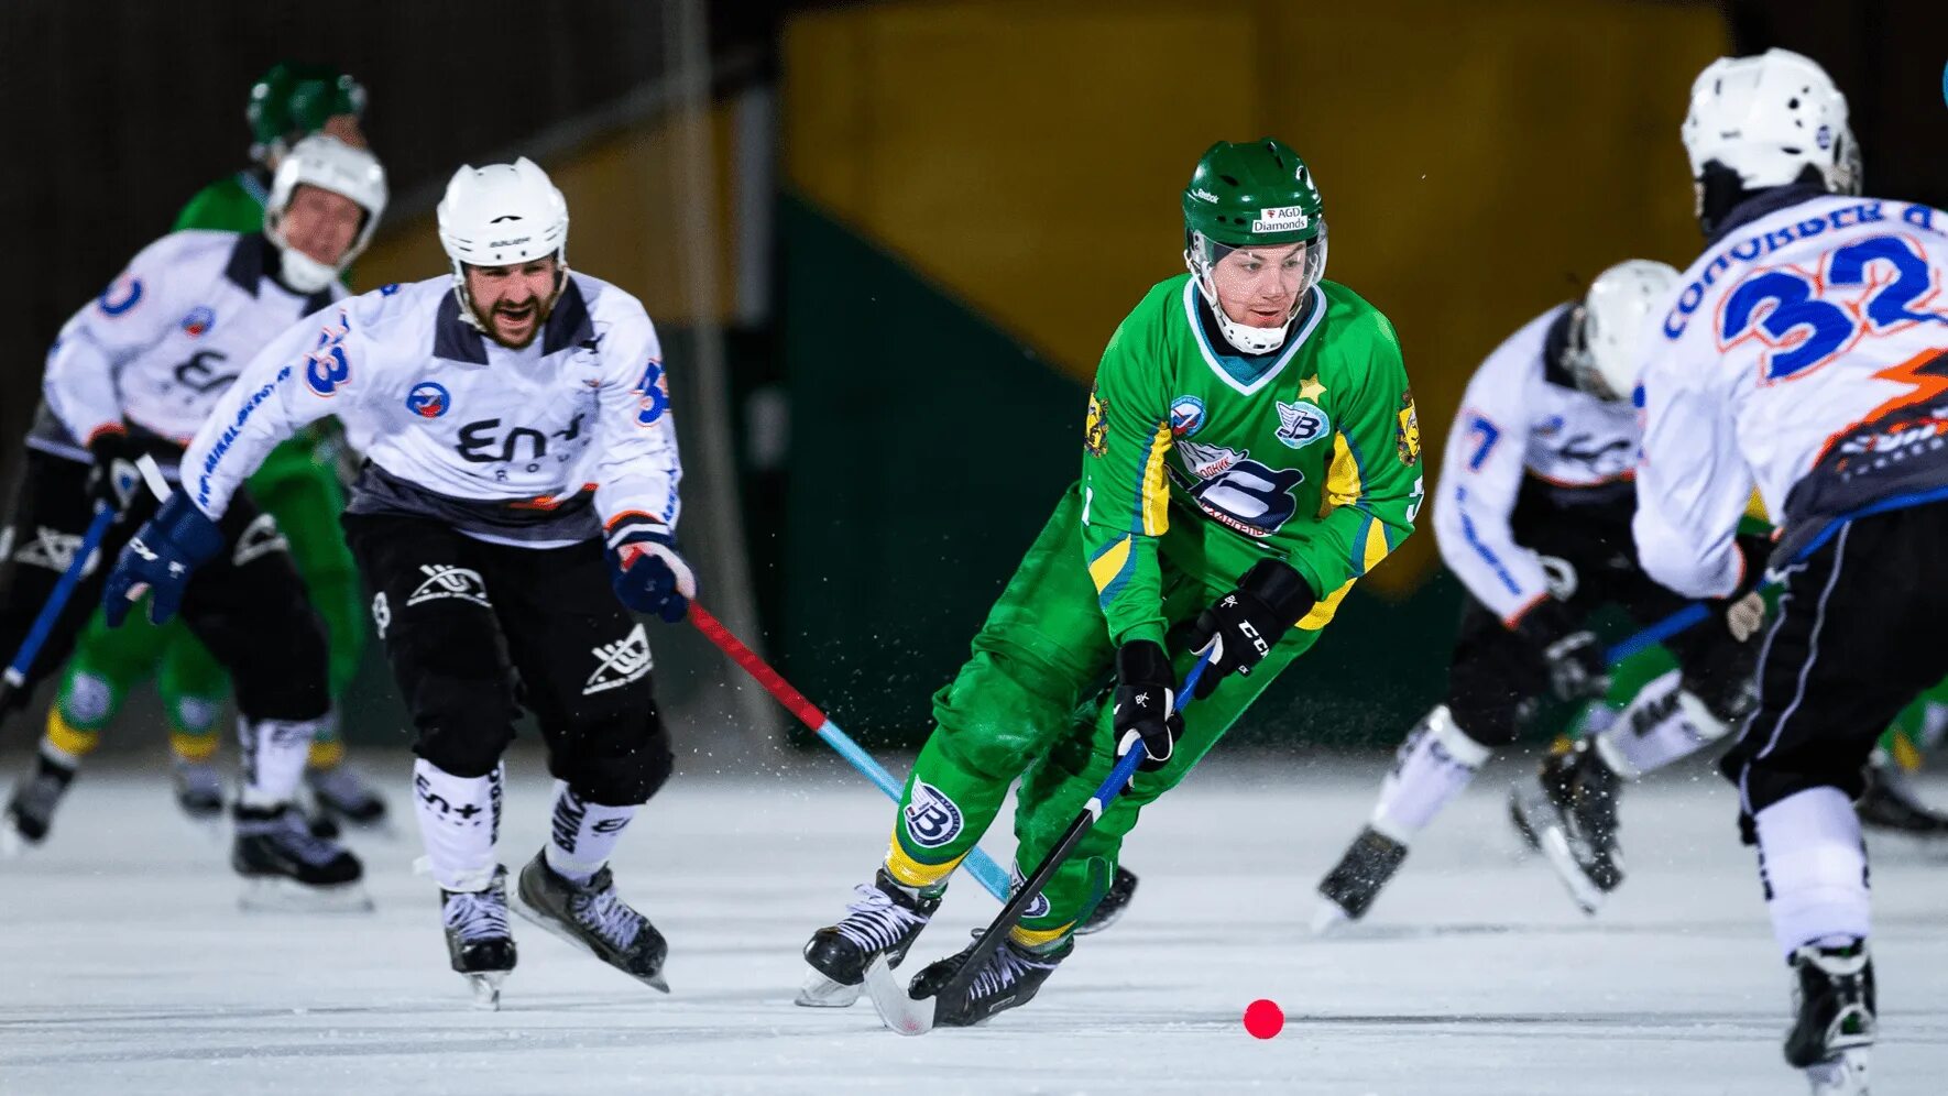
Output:
[[[1290,243],[1305,247],[1288,257],[1293,276],[1280,282],[1293,288],[1286,323],[1253,327],[1231,319],[1218,300],[1218,263],[1231,251]],[[1233,347],[1247,354],[1266,354],[1284,345],[1292,321],[1327,269],[1325,206],[1313,173],[1290,144],[1266,136],[1251,144],[1219,140],[1204,150],[1184,187],[1184,263]]]

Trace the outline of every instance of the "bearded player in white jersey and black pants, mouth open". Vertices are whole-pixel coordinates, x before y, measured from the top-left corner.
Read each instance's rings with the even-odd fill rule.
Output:
[[[370,438],[345,531],[417,730],[454,969],[495,1003],[514,968],[495,837],[526,705],[555,808],[514,907],[664,989],[662,934],[606,866],[672,761],[625,605],[680,621],[695,586],[674,541],[682,465],[656,329],[629,294],[569,273],[567,202],[528,160],[462,167],[438,224],[452,276],[327,308],[251,360],[107,596],[148,584],[173,607],[238,485],[304,424],[337,415]],[[294,779],[302,742],[290,757]]]

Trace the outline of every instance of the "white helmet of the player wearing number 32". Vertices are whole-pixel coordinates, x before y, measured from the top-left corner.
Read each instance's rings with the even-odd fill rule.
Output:
[[[1812,164],[1831,193],[1856,195],[1860,187],[1847,95],[1825,68],[1792,51],[1710,62],[1691,84],[1683,138],[1693,179],[1718,162],[1757,191],[1794,183]]]

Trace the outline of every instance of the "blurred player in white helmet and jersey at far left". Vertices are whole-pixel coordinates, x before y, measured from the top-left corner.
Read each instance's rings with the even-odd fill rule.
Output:
[[[298,142],[279,164],[257,232],[173,232],[60,329],[47,354],[47,409],[27,436],[27,459],[10,528],[37,537],[35,566],[0,578],[0,646],[16,650],[66,568],[92,512],[119,512],[103,559],[123,547],[144,506],[134,461],[150,456],[168,479],[222,401],[224,360],[245,360],[296,319],[345,296],[337,273],[370,239],[386,208],[386,173],[372,154],[329,136]],[[90,467],[92,465],[92,467]],[[245,903],[364,905],[360,864],[314,839],[292,806],[312,736],[327,718],[325,637],[292,570],[277,522],[245,496],[203,530],[210,566],[177,582],[189,631],[236,683],[244,740],[242,790],[232,810],[230,862],[255,884]],[[0,541],[12,539],[0,535]],[[19,689],[58,668],[99,603],[105,568],[76,588]],[[111,623],[127,602],[109,605]],[[275,637],[275,642],[267,640]],[[0,837],[41,841],[80,765],[80,744],[49,736],[35,773],[8,802]]]

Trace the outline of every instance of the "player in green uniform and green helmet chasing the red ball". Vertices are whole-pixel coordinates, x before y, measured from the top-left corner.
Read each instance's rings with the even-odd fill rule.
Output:
[[[1182,206],[1190,273],[1151,288],[1110,337],[1081,481],[935,693],[886,860],[806,942],[801,1005],[849,1005],[875,956],[904,958],[1017,777],[1021,878],[1108,777],[1118,744],[1140,740],[1130,792],[935,1022],[976,1024],[1034,997],[1143,806],[1412,531],[1420,428],[1401,347],[1373,306],[1321,280],[1327,226],[1305,164],[1278,140],[1214,144]],[[1182,707],[1177,681],[1206,650],[1200,699]],[[914,995],[935,995],[962,956],[929,966]]]

